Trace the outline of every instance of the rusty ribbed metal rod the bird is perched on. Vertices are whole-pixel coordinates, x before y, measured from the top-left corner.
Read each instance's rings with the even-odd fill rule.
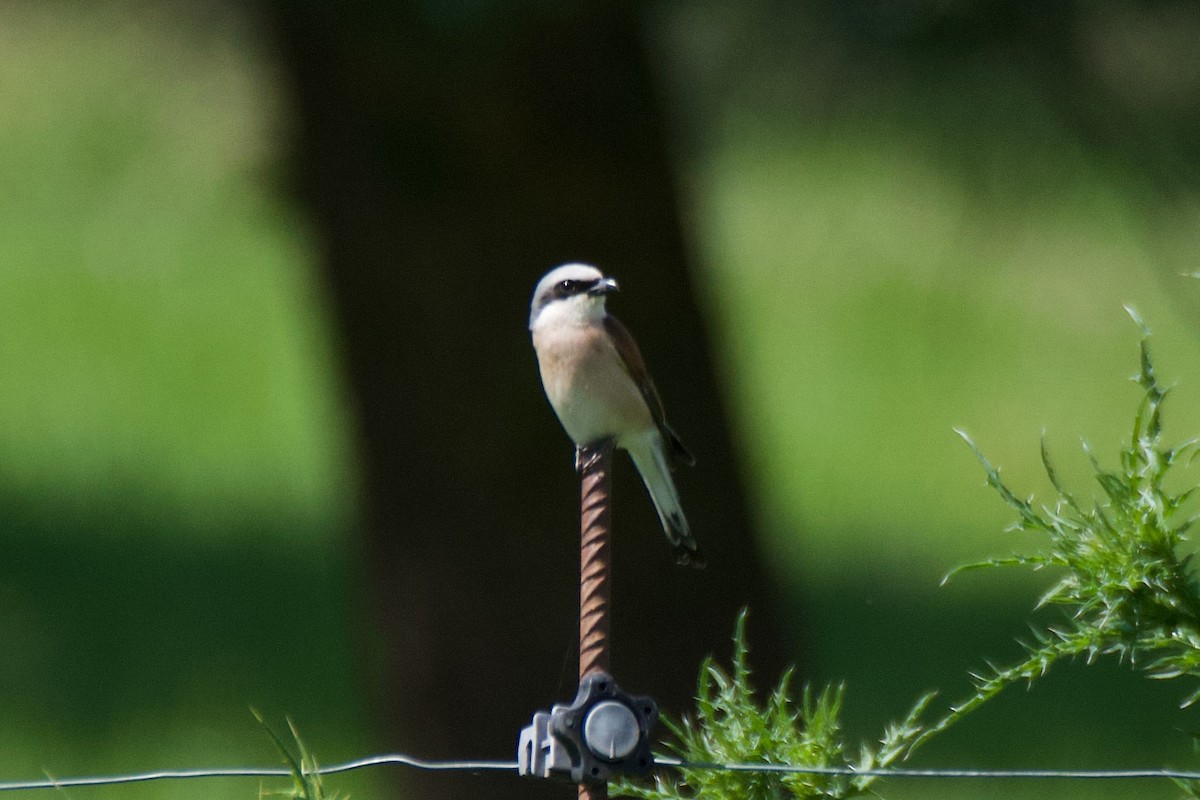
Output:
[[[580,679],[610,672],[613,443],[580,447]],[[606,784],[580,784],[580,800],[605,800]]]

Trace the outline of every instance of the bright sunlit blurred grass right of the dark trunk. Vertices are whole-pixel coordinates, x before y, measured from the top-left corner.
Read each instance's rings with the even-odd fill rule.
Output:
[[[1200,347],[1177,306],[1200,295],[1159,275],[1118,187],[1080,168],[1066,197],[983,204],[953,170],[862,127],[730,134],[697,180],[752,485],[788,563],[822,565],[806,581],[830,563],[936,577],[1003,545],[1004,510],[955,426],[1018,486],[1044,485],[1043,428],[1087,480],[1079,439],[1115,444],[1138,398],[1123,303],[1182,383],[1169,423],[1200,429],[1187,397]]]

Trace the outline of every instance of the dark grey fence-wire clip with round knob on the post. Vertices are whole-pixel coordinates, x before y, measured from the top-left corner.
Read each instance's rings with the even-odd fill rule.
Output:
[[[517,772],[574,783],[607,783],[613,775],[646,775],[654,766],[650,729],[659,710],[628,694],[612,676],[593,672],[570,705],[539,711],[521,732]]]

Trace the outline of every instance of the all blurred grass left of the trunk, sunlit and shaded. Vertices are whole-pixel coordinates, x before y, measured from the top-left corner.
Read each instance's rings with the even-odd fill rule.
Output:
[[[0,780],[275,764],[250,705],[368,750],[347,423],[262,47],[222,4],[0,4]]]

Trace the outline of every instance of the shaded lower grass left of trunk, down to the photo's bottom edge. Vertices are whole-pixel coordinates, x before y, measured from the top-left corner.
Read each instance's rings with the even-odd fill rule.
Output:
[[[251,705],[311,724],[308,742],[328,763],[370,747],[349,588],[331,548],[307,548],[306,564],[260,546],[199,549],[124,531],[143,543],[116,548],[47,533],[5,543],[4,780],[276,765]],[[368,796],[380,777],[338,786]],[[250,798],[257,787],[168,782],[72,795]]]

